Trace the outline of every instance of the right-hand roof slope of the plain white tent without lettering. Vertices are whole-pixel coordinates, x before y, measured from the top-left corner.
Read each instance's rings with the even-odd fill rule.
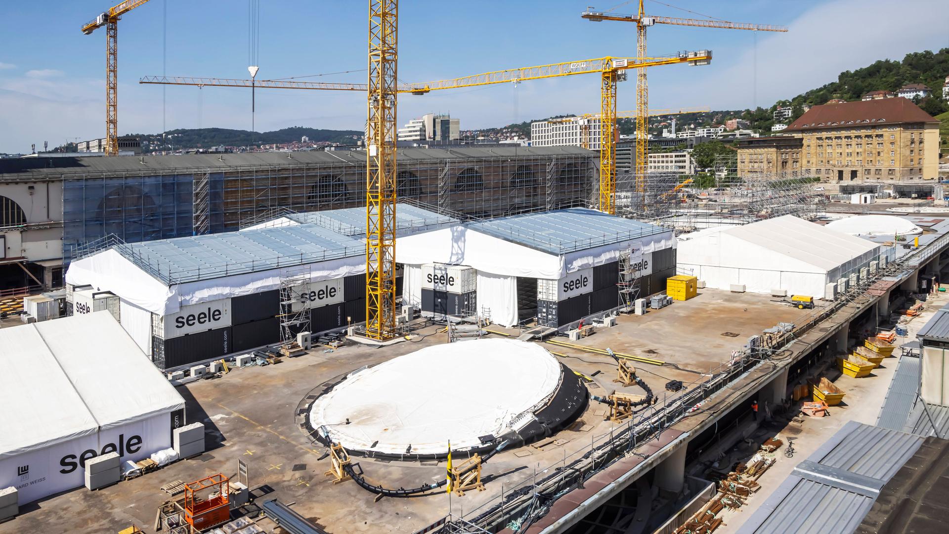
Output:
[[[836,269],[880,245],[791,215],[721,231],[825,271]]]

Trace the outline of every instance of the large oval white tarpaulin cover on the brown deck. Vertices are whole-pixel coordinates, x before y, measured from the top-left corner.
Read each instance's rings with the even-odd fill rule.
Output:
[[[413,453],[443,454],[449,441],[453,449],[478,447],[478,436],[499,436],[518,414],[545,403],[560,373],[546,349],[523,341],[426,347],[350,375],[316,399],[310,424],[326,425],[330,438],[350,449],[400,454],[411,445]],[[477,391],[459,395],[460,378]]]

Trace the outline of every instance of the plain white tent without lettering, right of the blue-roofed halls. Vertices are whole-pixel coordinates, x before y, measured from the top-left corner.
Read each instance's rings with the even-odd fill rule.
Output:
[[[717,227],[679,237],[679,274],[707,287],[824,296],[828,283],[880,256],[880,246],[793,216]]]

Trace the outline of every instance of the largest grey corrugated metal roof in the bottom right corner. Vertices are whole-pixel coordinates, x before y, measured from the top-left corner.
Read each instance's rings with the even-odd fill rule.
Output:
[[[795,467],[738,532],[853,532],[921,444],[921,436],[849,421]]]

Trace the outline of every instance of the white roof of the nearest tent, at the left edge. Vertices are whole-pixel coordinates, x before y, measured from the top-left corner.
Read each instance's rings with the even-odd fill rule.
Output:
[[[0,457],[184,408],[108,312],[0,329]]]

